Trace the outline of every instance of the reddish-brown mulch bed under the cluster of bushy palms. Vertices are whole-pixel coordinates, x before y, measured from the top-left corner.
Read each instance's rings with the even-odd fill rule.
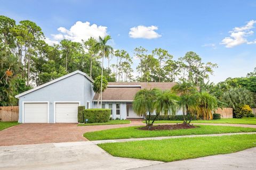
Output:
[[[139,130],[147,130],[147,131],[159,131],[159,130],[177,130],[177,129],[192,129],[197,128],[197,126],[194,125],[186,125],[186,124],[171,124],[171,125],[157,125],[152,126],[150,129],[148,129],[147,126],[138,128]]]

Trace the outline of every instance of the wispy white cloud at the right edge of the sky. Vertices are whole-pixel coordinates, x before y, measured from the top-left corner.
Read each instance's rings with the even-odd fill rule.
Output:
[[[255,20],[247,22],[242,27],[235,27],[232,31],[229,31],[230,36],[225,37],[220,44],[225,45],[227,48],[232,48],[241,44],[255,44],[256,41],[248,41],[247,37],[253,35],[253,25],[256,23]]]

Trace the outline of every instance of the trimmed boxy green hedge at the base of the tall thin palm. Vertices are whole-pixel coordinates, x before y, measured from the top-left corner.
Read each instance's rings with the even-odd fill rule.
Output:
[[[88,119],[88,123],[108,122],[110,117],[110,109],[92,108],[83,111],[84,120]]]

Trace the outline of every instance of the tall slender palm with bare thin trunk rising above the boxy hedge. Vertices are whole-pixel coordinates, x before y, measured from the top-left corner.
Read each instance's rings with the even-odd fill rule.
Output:
[[[101,38],[99,36],[98,43],[95,44],[95,50],[102,55],[102,65],[101,65],[101,85],[100,85],[100,108],[102,108],[102,78],[103,78],[103,63],[104,63],[104,57],[108,57],[110,53],[113,53],[114,49],[113,47],[107,45],[108,40],[110,40],[111,37],[108,35],[105,38]]]

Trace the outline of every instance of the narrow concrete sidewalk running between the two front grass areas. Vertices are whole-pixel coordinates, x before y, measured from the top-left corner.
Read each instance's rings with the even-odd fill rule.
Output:
[[[151,138],[131,138],[131,139],[113,139],[113,140],[94,140],[91,142],[98,145],[100,143],[129,142],[129,141],[142,141],[142,140],[162,140],[162,139],[173,139],[173,138],[221,137],[221,136],[226,136],[226,135],[237,135],[237,134],[256,134],[256,132],[197,134],[197,135],[183,135],[183,136],[173,136],[173,137],[151,137]]]

